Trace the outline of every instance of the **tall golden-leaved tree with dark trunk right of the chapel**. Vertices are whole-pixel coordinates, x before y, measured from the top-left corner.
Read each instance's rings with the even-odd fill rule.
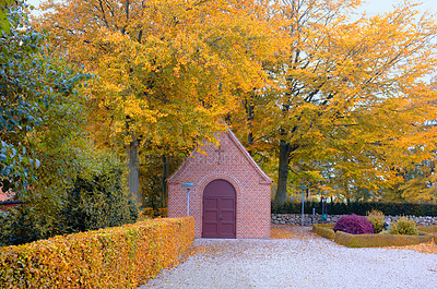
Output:
[[[347,198],[354,188],[391,186],[435,156],[436,130],[424,123],[436,116],[436,94],[424,80],[435,71],[436,23],[411,2],[353,20],[359,3],[279,1],[292,43],[276,62],[285,85],[255,108],[268,116],[258,118],[258,140],[279,144],[276,205],[288,176]]]

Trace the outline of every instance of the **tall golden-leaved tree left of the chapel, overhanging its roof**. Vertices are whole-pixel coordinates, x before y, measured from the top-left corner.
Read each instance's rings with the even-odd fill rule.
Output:
[[[127,146],[129,186],[138,196],[138,149],[163,159],[215,142],[236,91],[268,85],[262,61],[280,44],[268,1],[48,1],[38,23],[73,63],[97,74],[91,127],[99,142]],[[265,15],[265,17],[263,16]],[[280,36],[280,34],[277,34]],[[93,122],[93,120],[92,120]],[[165,161],[164,161],[165,162]],[[165,179],[165,177],[164,177]]]

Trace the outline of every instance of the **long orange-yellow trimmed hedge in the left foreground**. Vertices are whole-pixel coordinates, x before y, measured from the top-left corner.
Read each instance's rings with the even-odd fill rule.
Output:
[[[0,288],[137,288],[175,265],[192,217],[146,220],[0,249]]]

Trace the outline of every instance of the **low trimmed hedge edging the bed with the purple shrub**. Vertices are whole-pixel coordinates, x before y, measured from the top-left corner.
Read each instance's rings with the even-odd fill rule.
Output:
[[[363,233],[351,234],[342,231],[333,231],[333,224],[317,224],[312,226],[312,231],[321,237],[330,239],[335,243],[349,248],[367,246],[392,246],[411,245],[430,242],[433,236],[422,232],[420,236],[406,234],[382,234],[382,233]]]

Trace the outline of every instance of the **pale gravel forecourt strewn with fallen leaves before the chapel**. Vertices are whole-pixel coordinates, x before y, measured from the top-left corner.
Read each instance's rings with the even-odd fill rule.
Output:
[[[309,229],[294,239],[196,239],[200,253],[139,288],[437,288],[437,254],[350,249]]]

